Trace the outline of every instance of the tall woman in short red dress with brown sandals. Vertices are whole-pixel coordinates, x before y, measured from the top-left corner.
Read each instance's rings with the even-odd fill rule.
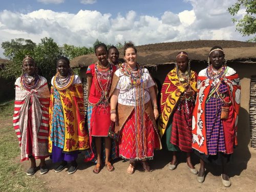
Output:
[[[88,129],[90,135],[91,151],[86,153],[86,161],[97,164],[93,173],[98,174],[102,168],[102,160],[110,172],[114,166],[111,159],[116,158],[115,141],[108,137],[112,127],[110,120],[109,92],[116,66],[108,60],[108,49],[105,44],[95,47],[95,55],[98,61],[88,67]],[[101,140],[104,142],[101,142]],[[104,147],[105,153],[101,148]]]

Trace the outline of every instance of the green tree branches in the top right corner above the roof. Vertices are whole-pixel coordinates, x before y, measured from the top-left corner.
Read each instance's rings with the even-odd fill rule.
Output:
[[[246,14],[241,19],[232,18],[233,23],[236,23],[237,31],[243,36],[254,35],[249,41],[256,42],[256,1],[255,0],[238,0],[236,4],[228,8],[231,15],[236,15],[241,8],[246,9]]]

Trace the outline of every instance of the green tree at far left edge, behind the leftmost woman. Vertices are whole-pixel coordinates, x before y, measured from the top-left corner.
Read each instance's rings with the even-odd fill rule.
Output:
[[[4,55],[11,61],[5,66],[5,70],[0,72],[0,77],[14,78],[22,73],[22,60],[25,55],[33,57],[36,44],[30,39],[16,38],[11,41],[2,42]]]

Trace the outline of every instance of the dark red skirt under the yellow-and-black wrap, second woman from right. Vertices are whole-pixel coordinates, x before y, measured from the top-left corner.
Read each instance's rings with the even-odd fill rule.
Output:
[[[174,112],[170,143],[178,146],[183,152],[192,151],[192,113],[194,104],[191,101],[180,102]]]

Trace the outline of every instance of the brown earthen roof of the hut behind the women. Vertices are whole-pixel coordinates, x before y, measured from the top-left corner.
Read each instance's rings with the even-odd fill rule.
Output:
[[[209,50],[214,46],[224,49],[227,62],[237,60],[241,62],[256,61],[256,43],[231,40],[194,40],[180,42],[166,42],[137,46],[137,60],[140,65],[156,66],[175,62],[180,51],[186,51],[191,61],[206,61]],[[123,52],[120,51],[120,58]],[[89,66],[97,60],[95,54],[82,55],[71,60],[71,67]]]

